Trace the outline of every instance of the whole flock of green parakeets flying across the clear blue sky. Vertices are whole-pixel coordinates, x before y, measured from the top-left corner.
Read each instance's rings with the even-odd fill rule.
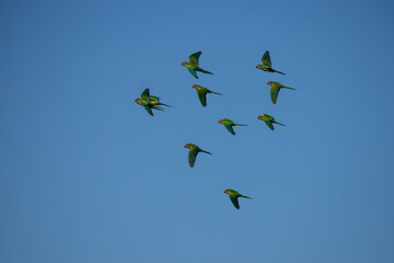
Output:
[[[193,75],[193,77],[195,77],[196,79],[198,79],[197,71],[202,72],[202,73],[213,75],[212,72],[209,72],[199,67],[198,59],[199,59],[200,55],[201,55],[201,52],[194,53],[189,56],[188,62],[186,62],[186,61],[182,62],[182,66],[185,66],[187,68],[187,70]],[[256,65],[256,68],[262,69],[267,72],[277,72],[280,75],[285,75],[283,72],[273,69],[270,57],[269,57],[269,52],[265,52],[265,54],[263,55],[262,61],[263,61],[263,65]],[[270,88],[270,98],[271,98],[271,101],[274,104],[277,103],[280,89],[296,90],[294,88],[282,85],[281,83],[276,82],[276,81],[267,81],[267,84],[269,84],[271,87]],[[198,99],[202,106],[207,106],[207,93],[222,95],[221,93],[208,90],[207,88],[205,88],[202,85],[193,84],[193,88],[196,89]],[[164,108],[162,106],[170,106],[167,104],[160,102],[159,96],[151,95],[149,93],[149,89],[146,89],[141,93],[141,98],[137,98],[135,101],[137,104],[143,106],[144,110],[151,116],[153,116],[152,108],[158,110],[158,111],[164,111]],[[264,114],[263,116],[259,115],[257,118],[263,121],[271,130],[275,130],[274,124],[285,126],[285,124],[276,122],[276,119],[268,114]],[[224,125],[224,127],[232,135],[235,135],[235,132],[233,129],[234,126],[247,126],[245,124],[234,123],[233,121],[231,121],[229,118],[219,119],[218,123]],[[189,149],[188,163],[189,163],[190,168],[193,168],[195,165],[198,152],[205,152],[208,155],[212,155],[209,151],[205,151],[205,150],[200,149],[198,146],[196,146],[194,144],[186,144],[186,145],[184,145],[184,147]],[[236,209],[240,209],[240,204],[237,201],[239,197],[244,197],[244,198],[251,199],[251,197],[242,195],[239,192],[236,192],[235,190],[231,190],[231,188],[224,190],[224,193],[230,196],[230,199]]]

